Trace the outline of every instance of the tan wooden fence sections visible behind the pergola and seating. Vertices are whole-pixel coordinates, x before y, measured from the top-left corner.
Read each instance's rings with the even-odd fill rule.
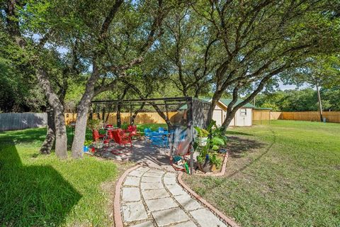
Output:
[[[133,114],[133,113],[132,113]],[[164,113],[166,114],[166,113]],[[183,114],[179,112],[169,112],[169,119],[174,121],[179,121]],[[103,114],[99,114],[100,118],[103,119]],[[105,118],[108,117],[106,123],[115,125],[117,124],[117,114],[110,113],[105,114]],[[94,118],[98,118],[97,114],[94,114]],[[70,121],[76,121],[77,114],[67,113],[65,114],[65,122],[69,125]],[[120,113],[120,120],[122,123],[130,123],[130,113]],[[142,112],[137,114],[135,118],[135,123],[165,123],[164,119],[155,112]]]

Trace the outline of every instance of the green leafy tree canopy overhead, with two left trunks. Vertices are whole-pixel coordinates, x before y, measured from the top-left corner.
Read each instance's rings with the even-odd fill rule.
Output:
[[[324,92],[332,91],[339,81],[339,4],[3,0],[0,108],[50,106],[61,157],[64,110],[77,109],[72,155],[80,157],[91,100],[103,96],[211,96],[209,116],[229,96],[227,126],[241,106],[280,80],[319,78]]]

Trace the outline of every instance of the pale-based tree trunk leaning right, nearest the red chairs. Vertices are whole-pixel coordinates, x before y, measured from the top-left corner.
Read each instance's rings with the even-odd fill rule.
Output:
[[[72,157],[83,157],[83,148],[86,134],[87,113],[91,100],[94,97],[94,85],[98,79],[98,69],[94,64],[94,71],[91,74],[88,82],[86,83],[86,89],[84,95],[78,104],[76,130],[74,131],[74,140],[72,143]]]

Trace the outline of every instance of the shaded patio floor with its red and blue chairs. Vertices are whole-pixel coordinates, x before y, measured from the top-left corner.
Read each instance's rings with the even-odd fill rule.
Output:
[[[137,129],[137,126],[135,128]],[[136,162],[167,171],[184,170],[184,168],[176,167],[171,158],[170,147],[174,146],[171,141],[176,138],[175,131],[168,131],[161,127],[157,131],[152,131],[150,128],[145,128],[144,132],[138,129],[127,131],[112,126],[106,128],[105,131],[106,134],[99,134],[99,137],[98,132],[92,133],[94,141],[102,143],[102,147],[99,146],[93,150],[96,156]],[[183,144],[190,144],[186,140],[186,134],[181,133],[178,138],[180,141],[176,141],[178,144],[176,150],[181,150],[179,152],[181,154],[184,149],[184,153],[190,155],[190,148],[183,147]]]

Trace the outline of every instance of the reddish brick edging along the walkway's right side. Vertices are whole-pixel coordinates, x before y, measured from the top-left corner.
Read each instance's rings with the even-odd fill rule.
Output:
[[[210,211],[212,211],[213,213],[215,213],[217,216],[219,216],[222,220],[224,220],[229,226],[232,227],[240,227],[236,222],[234,222],[231,218],[228,218],[227,216],[225,216],[224,214],[222,214],[221,211],[217,210],[214,206],[212,206],[211,204],[208,203],[208,201],[206,201],[205,199],[203,199],[201,196],[199,196],[196,192],[193,192],[193,190],[188,187],[188,185],[186,185],[186,183],[183,182],[182,180],[182,175],[183,172],[180,172],[179,175],[177,176],[177,180],[179,181],[179,184],[181,184],[181,186],[186,189],[186,191],[191,194],[192,196],[194,196],[198,201],[200,201],[202,204],[204,204],[205,206],[208,207],[208,209],[210,209]]]

